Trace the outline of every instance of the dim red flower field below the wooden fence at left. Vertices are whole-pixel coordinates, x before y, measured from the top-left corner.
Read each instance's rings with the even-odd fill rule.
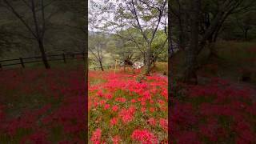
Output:
[[[0,143],[84,143],[84,67],[0,71]]]

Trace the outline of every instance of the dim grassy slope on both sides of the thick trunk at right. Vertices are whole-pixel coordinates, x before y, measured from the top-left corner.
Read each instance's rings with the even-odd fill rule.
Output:
[[[208,59],[209,50],[205,48],[198,57],[198,63],[202,66],[198,75],[202,77],[220,77],[238,82],[242,75],[251,73],[250,83],[256,83],[256,41],[252,42],[218,42],[216,49],[219,58]],[[184,54],[174,55],[172,70],[180,75],[184,70]]]

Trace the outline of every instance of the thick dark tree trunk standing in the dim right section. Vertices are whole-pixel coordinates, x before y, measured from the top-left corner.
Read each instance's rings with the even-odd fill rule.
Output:
[[[186,50],[186,70],[184,74],[184,82],[188,84],[197,84],[196,75],[197,66],[197,50],[198,50],[198,26],[199,26],[199,10],[201,0],[191,0],[191,33],[190,46]]]

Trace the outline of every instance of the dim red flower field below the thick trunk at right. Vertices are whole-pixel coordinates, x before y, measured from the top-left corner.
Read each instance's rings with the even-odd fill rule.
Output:
[[[256,143],[256,91],[213,78],[171,98],[173,143]]]

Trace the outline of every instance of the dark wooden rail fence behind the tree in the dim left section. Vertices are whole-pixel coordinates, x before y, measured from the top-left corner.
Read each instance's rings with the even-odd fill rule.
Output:
[[[46,56],[49,62],[62,61],[66,63],[66,60],[68,59],[79,59],[79,58],[83,58],[85,60],[85,53],[50,54]],[[35,63],[35,62],[42,62],[42,56],[0,60],[0,69],[8,66],[22,66],[23,68],[25,68],[25,64]]]

